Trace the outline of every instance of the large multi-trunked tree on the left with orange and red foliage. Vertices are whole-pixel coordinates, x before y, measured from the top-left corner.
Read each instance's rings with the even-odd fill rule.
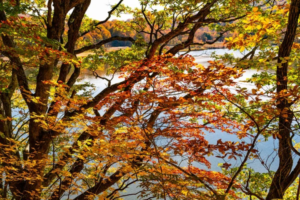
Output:
[[[125,80],[111,84],[110,80],[101,77],[108,80],[107,87],[94,97],[85,98],[76,95],[74,83],[80,73],[80,60],[76,59],[76,54],[98,49],[113,40],[129,40],[135,43],[134,46],[139,51],[145,45],[142,42],[135,42],[131,37],[112,36],[96,44],[86,46],[81,44],[80,48],[75,49],[78,38],[106,22],[113,12],[122,10],[121,2],[122,0],[111,7],[106,19],[94,23],[91,29],[80,30],[82,18],[90,0],[1,1],[0,21],[3,30],[1,52],[9,59],[3,61],[2,66],[4,70],[9,66],[11,71],[7,74],[10,74],[11,81],[9,82],[9,77],[7,77],[9,84],[5,92],[1,92],[3,118],[1,120],[3,129],[1,129],[3,132],[1,165],[4,181],[2,197],[9,194],[15,199],[40,199],[43,197],[59,199],[62,195],[77,194],[76,188],[81,185],[81,194],[78,193],[74,199],[85,199],[97,195],[113,196],[117,190],[124,189],[128,180],[134,179],[136,175],[139,177],[139,173],[146,170],[145,163],[153,160],[152,164],[154,164],[154,160],[160,160],[161,154],[163,155],[163,152],[160,151],[161,149],[165,151],[166,146],[157,149],[156,139],[160,134],[171,134],[174,137],[174,133],[171,132],[175,130],[170,128],[171,124],[183,123],[179,119],[186,117],[191,108],[187,106],[181,114],[175,114],[175,109],[179,109],[191,98],[193,98],[192,101],[200,103],[201,101],[195,100],[196,94],[207,95],[201,89],[202,83],[190,78],[193,77],[192,74],[204,74],[208,69],[191,69],[193,63],[190,58],[172,58],[170,53],[174,55],[179,50],[191,45],[195,31],[206,21],[208,23],[234,21],[242,16],[241,10],[247,6],[247,4],[229,6],[228,2],[224,0],[178,1],[175,3],[173,1],[141,1],[141,9],[137,11],[137,17],[141,17],[142,21],[150,28],[150,39],[146,43],[145,57],[139,53],[139,56],[126,60],[127,64],[113,61],[115,68],[111,70],[126,74]],[[158,12],[156,10],[146,11],[146,7],[156,4],[166,7]],[[168,6],[171,8],[167,8]],[[236,9],[234,13],[231,13],[234,7]],[[46,13],[42,12],[44,8],[47,8]],[[219,9],[228,10],[220,15],[218,14]],[[23,17],[19,15],[20,13],[30,14]],[[172,27],[166,29],[170,20],[172,20]],[[63,38],[65,23],[68,28],[67,37]],[[164,32],[162,32],[163,29]],[[165,52],[163,47],[170,39],[182,34],[188,35],[186,41],[167,50],[167,56],[157,56]],[[215,38],[216,40],[217,38]],[[133,50],[136,48],[132,47]],[[96,56],[93,57],[94,62],[97,60]],[[128,57],[125,58],[128,59]],[[90,59],[86,59],[86,61],[87,63],[82,64],[92,65]],[[183,61],[186,64],[183,65]],[[59,62],[62,63],[58,67]],[[74,70],[68,76],[71,66],[74,67]],[[93,67],[95,66],[93,65]],[[213,68],[223,70],[222,65],[215,64],[211,67],[211,70],[215,70]],[[34,84],[29,84],[29,77],[25,73],[25,70],[30,70],[30,68],[33,71],[37,70],[36,76],[32,79]],[[190,71],[188,77],[183,75],[186,70]],[[58,77],[53,79],[56,72]],[[177,79],[174,77],[170,77],[169,80],[162,78],[163,74],[170,76],[170,73],[176,74],[174,77]],[[233,73],[235,72],[233,71]],[[96,74],[95,71],[94,74]],[[227,82],[230,78],[230,74],[227,72],[226,74],[228,75],[220,78],[218,83],[220,86],[222,82]],[[209,81],[217,80],[216,76],[211,78]],[[146,82],[144,83],[143,80]],[[196,87],[200,88],[195,88],[195,91],[189,87],[184,89],[180,86],[180,81],[196,84]],[[207,80],[207,82],[209,81]],[[164,90],[158,87],[156,82],[161,82],[161,85],[169,82],[173,86],[169,88],[169,85],[166,85],[167,90]],[[11,115],[11,105],[13,105],[11,99],[16,88],[19,88],[26,104],[27,109],[25,110],[28,110],[29,120],[28,122],[20,121],[15,129],[13,128],[14,119]],[[140,88],[139,92],[137,92],[137,88]],[[55,91],[52,94],[53,89]],[[156,89],[158,90],[156,91]],[[176,91],[187,93],[180,96]],[[173,97],[168,98],[168,95]],[[150,99],[155,100],[149,101]],[[103,106],[108,109],[104,111],[104,114],[100,114],[98,110],[103,111]],[[87,114],[90,109],[94,110],[92,117]],[[139,116],[141,110],[144,110],[144,113]],[[121,113],[114,116],[116,111]],[[168,112],[166,116],[172,116],[174,120],[164,121],[166,119],[163,120],[163,117],[160,117],[164,112]],[[158,128],[160,123],[161,125],[165,124],[166,127]],[[155,128],[153,128],[154,125]],[[124,128],[121,128],[122,126]],[[21,127],[26,128],[23,130]],[[154,129],[156,130],[154,131]],[[182,132],[182,130],[176,131]],[[129,132],[129,135],[124,134],[126,132]],[[137,133],[136,136],[139,135],[140,138],[132,138],[132,132]],[[158,132],[159,134],[155,135]],[[198,133],[195,132],[195,134]],[[181,137],[184,137],[184,134]],[[16,138],[19,140],[17,141]],[[202,140],[203,138],[197,135],[193,142],[203,142]],[[108,142],[112,142],[112,146],[109,147]],[[183,140],[183,142],[186,141]],[[182,142],[179,143],[182,144]],[[126,148],[121,147],[122,145],[125,145]],[[135,145],[136,147],[134,147]],[[23,148],[23,153],[19,154],[18,149]],[[29,149],[28,152],[26,148]],[[109,151],[104,154],[103,152],[96,153],[99,149],[105,148]],[[90,154],[92,151],[94,153]],[[185,153],[194,156],[189,151],[186,149]],[[125,152],[129,157],[124,155]],[[151,158],[150,155],[154,152],[156,156]],[[206,162],[203,156],[199,156],[197,159]],[[160,170],[162,167],[160,166]],[[91,181],[91,179],[94,180]],[[119,188],[111,190],[112,186],[116,186],[116,183],[120,181],[123,183]],[[163,195],[166,195],[165,191],[163,191]]]

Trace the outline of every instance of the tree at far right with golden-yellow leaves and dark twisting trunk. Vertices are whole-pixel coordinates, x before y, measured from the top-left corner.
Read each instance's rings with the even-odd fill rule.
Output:
[[[275,107],[275,112],[273,113],[276,114],[275,116],[278,118],[278,121],[275,126],[275,132],[273,132],[273,137],[278,139],[279,165],[272,175],[272,182],[265,199],[283,198],[284,192],[294,182],[300,172],[299,158],[298,161],[295,162],[295,166],[293,166],[293,156],[300,155],[298,150],[294,147],[295,144],[293,141],[295,131],[298,129],[298,125],[295,125],[298,124],[298,82],[296,80],[297,75],[295,75],[295,73],[298,73],[298,67],[291,65],[291,61],[296,59],[294,56],[297,54],[294,50],[298,44],[294,43],[294,40],[296,32],[298,31],[299,5],[299,1],[297,0],[291,0],[290,4],[286,5],[284,3],[278,4],[271,8],[271,12],[268,15],[261,13],[261,10],[258,10],[258,8],[253,9],[254,13],[248,16],[249,21],[245,21],[245,23],[248,24],[247,27],[249,27],[249,30],[255,31],[256,33],[253,36],[240,34],[235,41],[240,37],[246,39],[241,39],[241,42],[230,42],[242,49],[244,49],[246,43],[250,44],[253,49],[246,56],[251,55],[251,58],[253,58],[254,51],[257,48],[273,50],[260,53],[260,58],[258,59],[259,62],[267,61],[267,63],[264,64],[265,66],[275,66],[276,69],[275,86],[263,94],[267,95],[267,93],[271,92],[272,94],[270,96],[275,102],[273,103],[273,107]],[[278,11],[276,9],[281,10]],[[270,16],[272,16],[272,18],[269,18]],[[286,20],[287,23],[282,26],[280,22]],[[278,28],[284,29],[285,31],[276,35],[279,33]],[[280,44],[277,49],[273,49],[269,46],[269,43],[267,44],[267,42],[264,41],[272,39],[275,39],[274,41],[277,40]],[[230,38],[228,40],[230,40]],[[254,40],[258,42],[254,44]],[[243,43],[244,41],[245,43]],[[272,56],[274,54],[277,54],[277,56],[273,58]],[[276,60],[275,64],[272,63],[273,60]],[[265,75],[266,74],[261,74],[258,77],[263,78]],[[264,82],[263,84],[269,83]],[[261,85],[259,87],[261,87]],[[256,93],[256,90],[254,90],[253,93]],[[299,193],[297,193],[296,198],[299,198]]]

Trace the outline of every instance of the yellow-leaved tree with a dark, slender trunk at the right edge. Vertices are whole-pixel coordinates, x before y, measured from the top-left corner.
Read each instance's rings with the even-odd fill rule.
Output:
[[[298,48],[295,37],[299,31],[297,24],[300,2],[298,0],[291,0],[290,3],[271,2],[270,9],[254,7],[253,12],[248,13],[248,20],[244,20],[246,31],[241,31],[242,34],[236,38],[227,38],[230,48],[250,50],[242,60],[250,57],[250,64],[255,64],[257,68],[273,68],[276,71],[274,76],[264,72],[259,75],[255,74],[255,77],[252,78],[252,82],[256,83],[257,88],[261,88],[261,85],[272,85],[271,88],[260,92],[260,95],[257,96],[268,96],[272,99],[273,103],[270,101],[270,105],[276,109],[268,111],[267,114],[275,114],[274,116],[278,119],[271,125],[272,130],[270,131],[273,138],[278,139],[279,163],[277,170],[270,175],[272,181],[267,188],[268,193],[265,197],[268,200],[283,199],[285,191],[300,172],[300,159],[298,158],[300,153],[296,149],[297,142],[294,140],[298,130],[298,66],[293,63]],[[283,21],[285,22],[282,23]],[[279,31],[279,29],[283,31]],[[276,47],[271,44],[275,44]],[[257,49],[261,49],[261,52],[255,56]],[[276,61],[275,64],[274,61]],[[241,62],[243,61],[239,60],[237,63],[248,68],[244,63],[249,64],[249,62]],[[267,77],[275,78],[276,81],[270,82],[265,79]],[[257,89],[254,89],[253,94],[256,92]],[[266,136],[269,135],[266,134]],[[263,163],[265,160],[261,161]],[[296,198],[296,195],[298,198],[298,194],[293,197]]]

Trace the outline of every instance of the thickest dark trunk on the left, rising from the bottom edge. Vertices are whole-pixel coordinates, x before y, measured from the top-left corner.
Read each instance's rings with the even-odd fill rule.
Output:
[[[85,1],[88,2],[88,6],[89,0]],[[53,0],[54,12],[52,19],[48,20],[49,23],[47,24],[47,38],[58,41],[61,33],[64,30],[65,17],[67,12],[74,6],[77,6],[85,1]],[[83,12],[85,12],[86,7],[83,8]],[[80,22],[81,21],[79,21],[79,24]],[[54,49],[58,48],[58,46],[51,45],[49,45],[48,47]],[[52,134],[50,130],[46,130],[41,127],[41,123],[35,120],[33,114],[41,115],[47,112],[49,89],[51,86],[48,81],[52,79],[53,68],[56,64],[57,60],[53,59],[52,61],[45,63],[39,67],[38,74],[36,76],[35,93],[32,94],[33,97],[39,99],[39,102],[30,101],[30,103],[28,104],[31,117],[29,120],[28,143],[30,156],[28,159],[32,160],[32,163],[34,163],[34,165],[32,168],[28,169],[28,180],[26,180],[26,184],[20,185],[17,188],[17,190],[21,193],[20,197],[16,197],[18,199],[40,199],[40,192],[42,190],[42,176],[44,171],[43,169],[45,167],[45,162],[43,160],[47,156]]]

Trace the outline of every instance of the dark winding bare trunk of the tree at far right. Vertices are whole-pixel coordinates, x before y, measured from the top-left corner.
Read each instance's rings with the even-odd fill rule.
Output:
[[[293,114],[290,111],[290,103],[284,98],[284,94],[287,89],[287,67],[288,62],[281,63],[281,59],[288,57],[291,51],[291,46],[295,38],[298,17],[299,17],[299,7],[300,0],[292,0],[289,7],[288,23],[284,39],[279,46],[278,60],[280,63],[276,70],[276,82],[277,82],[277,108],[281,112],[278,120],[278,157],[279,166],[276,170],[269,192],[266,196],[266,200],[271,200],[273,198],[283,198],[285,190],[288,188],[290,181],[290,176],[292,173],[298,173],[297,171],[292,171],[293,159],[292,159],[292,149],[290,143],[290,126]],[[281,59],[280,59],[281,58]],[[286,117],[287,116],[287,117]]]

